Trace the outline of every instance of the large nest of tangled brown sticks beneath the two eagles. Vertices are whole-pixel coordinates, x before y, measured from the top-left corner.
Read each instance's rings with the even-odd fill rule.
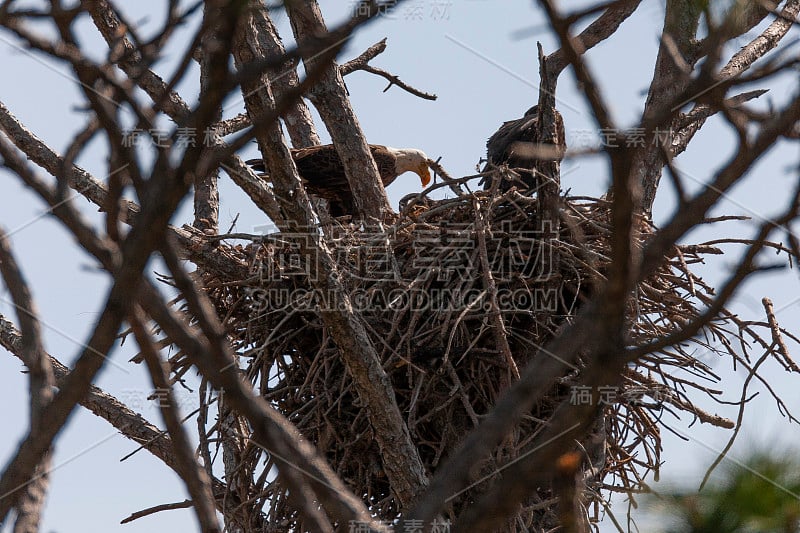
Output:
[[[527,354],[556,335],[603,279],[609,204],[562,198],[552,238],[543,238],[553,226],[542,224],[537,205],[535,197],[516,190],[438,201],[419,196],[381,231],[340,223],[328,228],[341,278],[430,472],[492,409],[514,379],[514,367],[536,364]],[[651,233],[641,222],[642,241]],[[302,232],[278,233],[248,246],[221,244],[249,264],[251,275],[228,279],[205,272],[205,286],[254,387],[317,446],[376,516],[391,520],[398,507],[367,411],[320,318],[319,306],[327,299],[309,281],[309,261],[318,258],[299,253],[298,237],[305,238]],[[712,291],[689,268],[705,253],[721,252],[709,246],[676,249],[639,285],[631,308],[633,343],[663,337],[699,315]],[[645,474],[658,470],[659,419],[665,411],[730,427],[696,408],[688,393],[715,392],[697,384],[716,377],[690,352],[698,345],[713,348],[718,339],[733,353],[730,335],[741,335],[738,326],[730,327],[734,322],[726,314],[708,325],[705,341],[641,359],[627,370],[622,388],[609,391],[602,419],[582,443],[590,514],[596,516],[603,489],[635,492]],[[487,480],[453,500],[453,515],[475,501],[498,468],[519,456],[560,402],[581,401],[575,387],[579,374],[564,375],[502,450],[483,459],[480,471]],[[244,445],[239,461],[239,479],[227,480],[231,490],[239,490],[243,501],[264,502],[268,522],[277,528],[296,524],[269,455]],[[520,511],[515,527],[547,523],[553,506],[542,489]]]

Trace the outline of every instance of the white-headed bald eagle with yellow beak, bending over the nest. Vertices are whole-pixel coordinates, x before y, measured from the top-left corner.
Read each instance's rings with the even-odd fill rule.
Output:
[[[391,148],[371,144],[372,157],[378,166],[383,186],[387,187],[397,176],[404,172],[415,172],[425,187],[431,181],[428,170],[428,156],[421,150],[413,148]],[[309,194],[328,201],[331,216],[352,215],[356,213],[355,199],[344,165],[332,144],[312,146],[310,148],[292,149],[292,157],[297,165],[300,178]],[[247,161],[256,172],[265,172],[261,159]]]

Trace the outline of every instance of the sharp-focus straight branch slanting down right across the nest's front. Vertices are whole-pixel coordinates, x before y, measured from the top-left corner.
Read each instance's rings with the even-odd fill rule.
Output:
[[[261,40],[257,35],[253,35],[264,31],[266,26],[263,17],[263,13],[252,11],[251,16],[240,28],[234,49],[237,64],[246,65],[250,61],[269,57],[264,50],[258,48],[257,43]],[[323,56],[314,63],[312,68],[317,69],[319,73],[312,71],[309,76],[318,75],[322,80],[329,76],[331,65],[324,62],[320,64],[320,61],[324,60]],[[245,83],[242,89],[250,116],[265,114],[275,105],[273,87],[270,84]],[[303,231],[302,228],[312,228],[308,231],[308,238],[300,239],[299,244],[301,253],[305,257],[317,259],[311,262],[310,272],[315,288],[320,294],[332,295],[332,300],[326,302],[326,309],[320,314],[355,381],[359,396],[368,406],[370,422],[375,429],[383,466],[392,482],[392,489],[400,503],[403,506],[408,505],[426,485],[427,480],[422,460],[395,401],[392,385],[364,325],[353,310],[350,298],[341,284],[341,274],[327,244],[313,230],[314,211],[300,183],[297,168],[281,135],[279,125],[276,122],[257,124],[256,137],[262,147],[281,207],[286,213],[287,220],[294,223],[293,231],[297,231],[297,228],[300,228],[300,231]],[[370,160],[371,157],[370,154]]]

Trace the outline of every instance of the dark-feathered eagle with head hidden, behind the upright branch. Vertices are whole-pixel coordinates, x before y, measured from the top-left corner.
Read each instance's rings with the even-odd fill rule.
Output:
[[[486,159],[489,164],[483,171],[489,170],[489,165],[508,165],[513,169],[532,169],[536,161],[560,160],[566,149],[564,140],[564,120],[561,113],[555,111],[556,124],[556,150],[552,155],[547,154],[547,144],[539,142],[539,106],[535,105],[525,112],[522,118],[504,122],[494,135],[486,142]],[[532,172],[517,171],[522,184],[527,188],[535,188],[536,181]],[[485,180],[485,187],[489,188],[491,180]],[[504,183],[501,190],[507,190],[510,184]]]

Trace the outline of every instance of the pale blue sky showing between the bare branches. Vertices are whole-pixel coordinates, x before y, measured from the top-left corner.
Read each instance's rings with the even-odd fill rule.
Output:
[[[33,2],[32,2],[33,3]],[[585,4],[586,2],[581,2]],[[140,21],[144,30],[153,28],[163,11],[160,2],[152,0],[127,3],[131,20]],[[352,2],[321,2],[331,25],[347,16]],[[570,3],[576,5],[577,3]],[[635,124],[641,113],[647,85],[652,75],[658,32],[663,17],[662,2],[645,2],[610,42],[592,50],[589,64],[601,82],[613,116],[622,127]],[[152,10],[152,11],[149,11]],[[285,17],[277,22],[285,38],[290,37]],[[342,60],[361,53],[366,47],[388,37],[387,51],[373,61],[400,76],[415,87],[436,93],[435,102],[418,99],[394,87],[382,92],[386,82],[371,74],[356,72],[346,78],[353,105],[370,142],[424,150],[434,159],[442,157],[442,165],[452,175],[471,174],[484,155],[485,142],[505,120],[517,118],[535,103],[538,87],[536,41],[541,40],[546,53],[552,52],[555,40],[547,33],[541,14],[534,3],[523,0],[490,2],[488,0],[419,1],[410,0],[390,16],[371,24],[349,43]],[[46,31],[42,28],[41,31]],[[188,29],[178,35],[178,45],[168,47],[160,72],[168,73],[186,42]],[[518,38],[524,35],[524,38]],[[87,22],[80,26],[80,36],[95,57],[104,57],[105,44]],[[745,38],[741,42],[746,42]],[[7,32],[0,33],[0,101],[6,104],[31,130],[58,151],[66,148],[72,134],[82,127],[85,117],[73,108],[79,101],[72,75],[61,65],[30,54],[17,46]],[[10,75],[8,75],[10,73]],[[785,99],[788,84],[774,86],[770,97]],[[181,86],[184,98],[193,102],[194,79]],[[569,71],[562,76],[559,109],[567,127],[567,139],[585,137],[593,132],[591,115]],[[241,111],[241,99],[231,97],[227,116]],[[327,135],[321,123],[318,129]],[[697,138],[695,146],[678,161],[688,183],[699,187],[708,180],[714,168],[724,163],[731,152],[730,132],[718,123],[710,124]],[[257,155],[255,146],[244,154]],[[107,169],[105,152],[100,144],[92,146],[80,164],[104,178]],[[760,218],[768,217],[781,206],[782,192],[796,175],[787,168],[797,163],[795,148],[776,147],[752,175],[734,191],[718,213],[748,214],[751,223],[729,223],[695,232],[693,239],[709,236],[744,237],[752,235]],[[597,195],[608,184],[607,167],[600,157],[567,161],[563,166],[564,188],[574,194]],[[407,175],[389,188],[393,203],[416,190],[417,181]],[[15,252],[31,282],[45,325],[48,350],[69,364],[79,352],[82,341],[97,318],[97,310],[105,297],[108,277],[97,271],[93,261],[81,253],[72,239],[52,219],[30,191],[19,185],[7,172],[0,170],[0,225],[12,233]],[[227,227],[240,214],[238,229],[252,231],[265,223],[265,217],[248,205],[243,194],[227,178],[221,180],[221,227]],[[83,200],[87,216],[95,209]],[[672,209],[668,189],[661,192],[656,205],[656,219],[664,220]],[[97,217],[95,216],[95,219]],[[184,209],[180,222],[190,220]],[[733,249],[735,251],[735,249]],[[731,258],[718,258],[703,268],[709,280],[724,279]],[[800,291],[794,272],[762,276],[749,283],[737,299],[735,310],[743,317],[763,320],[760,299],[769,296],[779,310],[782,324],[797,331]],[[0,294],[0,312],[16,316],[8,305],[8,295]],[[796,346],[795,346],[796,348]],[[128,364],[130,346],[118,350],[101,375],[99,385],[123,400],[140,406],[142,414],[161,425],[160,415],[152,404],[144,401],[151,386],[142,369]],[[703,354],[698,354],[703,357]],[[705,359],[708,359],[705,357]],[[724,377],[720,386],[728,392],[726,400],[739,396],[739,387],[746,375],[734,372],[728,361],[714,363]],[[27,421],[25,375],[13,357],[0,357],[0,405],[6,437],[0,440],[0,460],[5,462],[22,437]],[[764,370],[770,383],[782,394],[787,405],[800,405],[800,387],[796,376],[786,376],[776,365]],[[748,407],[745,431],[733,454],[742,454],[752,443],[796,442],[800,431],[782,418],[774,402],[762,389]],[[194,405],[185,395],[187,409]],[[706,410],[734,417],[735,411],[703,397],[697,402]],[[685,431],[689,420],[674,423]],[[189,428],[194,432],[194,424]],[[703,426],[691,429],[692,439],[683,442],[668,432],[664,434],[666,461],[662,479],[696,481],[714,459],[713,450],[724,445],[729,433]],[[190,511],[170,511],[120,526],[119,521],[139,509],[186,497],[177,478],[146,452],[140,452],[123,463],[119,459],[135,448],[105,422],[79,410],[62,433],[56,449],[52,488],[45,513],[43,531],[126,531],[150,532],[195,529]],[[712,451],[709,451],[712,450]],[[616,509],[624,514],[622,506]],[[180,529],[179,529],[180,528]],[[649,528],[646,528],[649,529]],[[606,522],[603,530],[610,531]]]

